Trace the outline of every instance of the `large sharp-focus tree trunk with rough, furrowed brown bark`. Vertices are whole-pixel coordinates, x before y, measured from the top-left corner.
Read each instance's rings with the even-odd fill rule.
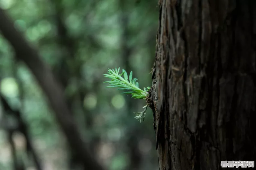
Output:
[[[152,100],[160,170],[255,160],[256,1],[159,5]]]

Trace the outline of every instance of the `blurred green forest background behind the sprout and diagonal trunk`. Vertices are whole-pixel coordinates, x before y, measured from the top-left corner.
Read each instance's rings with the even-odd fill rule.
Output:
[[[107,68],[121,67],[133,70],[140,87],[151,86],[157,1],[0,0],[0,8],[51,67],[98,162],[109,170],[157,170],[152,111],[140,123],[133,112],[145,101],[103,84]],[[79,170],[44,92],[15,55],[0,32],[0,170],[17,163]]]

